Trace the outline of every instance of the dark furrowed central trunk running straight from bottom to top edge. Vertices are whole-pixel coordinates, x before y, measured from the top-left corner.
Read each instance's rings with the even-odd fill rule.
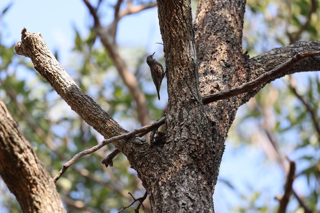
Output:
[[[199,91],[190,1],[158,1],[166,59],[167,165],[152,187],[153,212],[213,212],[214,143]]]

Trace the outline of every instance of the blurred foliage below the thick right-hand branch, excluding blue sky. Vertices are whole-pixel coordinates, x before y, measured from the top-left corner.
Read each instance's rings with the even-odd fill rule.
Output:
[[[233,142],[235,147],[245,146],[248,149],[262,150],[264,161],[271,162],[271,166],[278,167],[283,172],[283,180],[279,180],[280,183],[283,182],[283,185],[288,169],[286,157],[294,161],[297,164],[294,181],[294,186],[298,189],[297,193],[309,209],[319,212],[320,139],[310,112],[288,87],[290,81],[292,82],[295,77],[305,80],[297,84],[296,89],[306,103],[312,107],[317,115],[316,120],[319,121],[320,93],[315,87],[320,83],[320,74],[313,73],[309,76],[306,76],[306,73],[294,74],[291,80],[289,76],[286,76],[269,84],[240,108],[240,114],[237,114],[229,132],[234,140],[229,141]],[[303,89],[299,89],[299,85]],[[317,125],[319,125],[318,122]],[[233,183],[232,179],[229,181]],[[296,185],[295,182],[297,182]],[[252,186],[254,185],[255,183],[252,183]],[[274,197],[283,194],[284,187],[285,185],[283,190],[278,192],[279,194],[274,194]],[[252,193],[259,193],[259,191],[253,189]],[[263,195],[263,192],[261,193]],[[239,197],[243,198],[240,195]],[[267,198],[263,197],[263,199]],[[233,208],[233,210],[237,209],[235,212],[252,203],[247,198],[243,200],[246,202]],[[304,212],[294,196],[291,196],[289,206],[290,211],[287,212],[296,212],[298,209]],[[278,208],[277,205],[272,207],[268,202],[260,207],[267,208],[268,212],[271,209],[276,212]],[[248,208],[245,209],[248,211]],[[247,211],[241,210],[241,212]],[[252,212],[260,211],[262,210]]]

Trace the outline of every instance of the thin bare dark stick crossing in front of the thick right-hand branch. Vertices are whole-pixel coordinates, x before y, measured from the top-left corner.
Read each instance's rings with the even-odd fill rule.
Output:
[[[292,68],[294,65],[298,64],[300,61],[306,58],[312,58],[315,56],[320,55],[320,51],[311,52],[311,51],[302,51],[295,56],[293,56],[288,61],[284,62],[283,64],[279,65],[273,70],[270,70],[263,75],[259,76],[258,78],[249,81],[248,83],[245,83],[239,87],[235,87],[226,91],[217,92],[210,95],[203,96],[203,103],[204,105],[208,103],[212,103],[219,100],[224,100],[227,98],[231,98],[236,95],[241,95],[245,92],[249,92],[255,87],[258,87],[259,85],[266,83],[268,80],[271,80],[275,76],[287,71],[288,69]]]

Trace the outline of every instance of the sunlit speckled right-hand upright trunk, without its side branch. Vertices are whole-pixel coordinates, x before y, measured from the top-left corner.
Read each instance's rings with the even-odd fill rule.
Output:
[[[242,50],[245,1],[199,0],[195,20],[201,95],[228,90],[247,82],[248,56]],[[243,95],[241,95],[243,96]],[[241,101],[238,97],[205,106],[215,143],[217,183],[224,142]]]

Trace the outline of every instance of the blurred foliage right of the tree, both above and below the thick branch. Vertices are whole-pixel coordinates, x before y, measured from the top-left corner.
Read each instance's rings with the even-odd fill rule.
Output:
[[[250,57],[254,57],[290,42],[320,40],[319,3],[318,0],[247,0],[243,49],[248,50]],[[262,150],[264,160],[283,171],[283,184],[288,169],[286,156],[294,161],[297,164],[297,177],[293,188],[298,186],[297,194],[313,212],[320,212],[320,135],[315,127],[320,125],[319,85],[318,72],[295,73],[268,84],[239,109],[228,134],[234,147]],[[316,122],[298,95],[309,106]],[[232,179],[228,181],[233,184]],[[283,194],[284,187],[274,197]],[[277,211],[278,203],[270,205],[270,200],[263,197],[263,191],[257,191],[254,187],[249,196],[235,194],[243,202],[231,211]],[[256,195],[260,196],[260,201],[258,197],[254,198]],[[261,202],[261,199],[265,201]],[[256,205],[257,202],[259,205]],[[304,211],[297,198],[291,196],[287,212]]]

